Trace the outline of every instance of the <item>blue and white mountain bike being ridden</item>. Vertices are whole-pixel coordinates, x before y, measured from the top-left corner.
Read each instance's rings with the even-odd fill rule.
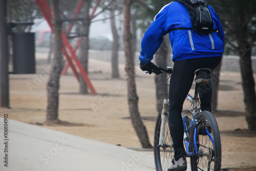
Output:
[[[172,67],[159,67],[161,73],[172,74]],[[210,69],[198,69],[194,97],[187,94],[191,103],[189,111],[191,119],[182,115],[184,125],[184,146],[186,157],[190,157],[191,170],[221,170],[221,140],[217,121],[209,111],[200,107],[199,85],[205,85],[210,80]],[[164,76],[165,77],[165,76]],[[163,78],[163,77],[162,77]],[[197,79],[198,78],[198,79]],[[161,82],[161,79],[160,79]],[[155,126],[154,157],[157,171],[167,171],[174,158],[172,137],[168,127],[168,104],[164,99],[163,108],[159,111]]]

